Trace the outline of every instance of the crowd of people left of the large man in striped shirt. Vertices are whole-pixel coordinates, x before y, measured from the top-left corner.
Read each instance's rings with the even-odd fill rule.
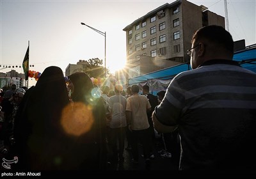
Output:
[[[13,84],[1,102],[3,157],[19,157],[13,169],[108,169],[124,162],[125,149],[138,164],[142,144],[150,164],[156,141],[151,114],[159,99],[147,85],[141,94],[138,85],[124,90],[116,84],[113,91],[95,86],[83,72],[65,81],[58,66],[46,68],[29,89]]]

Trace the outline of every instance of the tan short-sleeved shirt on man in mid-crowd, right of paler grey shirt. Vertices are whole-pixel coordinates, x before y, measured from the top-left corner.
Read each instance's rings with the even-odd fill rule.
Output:
[[[151,107],[148,98],[134,94],[127,98],[126,111],[132,111],[132,130],[143,130],[149,127],[147,109]]]

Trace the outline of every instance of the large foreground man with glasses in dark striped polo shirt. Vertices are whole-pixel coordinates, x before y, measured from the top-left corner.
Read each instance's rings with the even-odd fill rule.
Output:
[[[191,42],[193,70],[170,82],[154,126],[178,126],[180,170],[255,170],[256,74],[232,61],[234,41],[223,27],[202,27]]]

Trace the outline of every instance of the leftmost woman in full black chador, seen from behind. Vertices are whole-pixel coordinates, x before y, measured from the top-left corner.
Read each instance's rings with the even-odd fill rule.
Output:
[[[15,119],[15,152],[19,157],[15,166],[28,170],[63,168],[67,141],[60,121],[68,103],[61,68],[45,68],[36,85],[26,91]]]

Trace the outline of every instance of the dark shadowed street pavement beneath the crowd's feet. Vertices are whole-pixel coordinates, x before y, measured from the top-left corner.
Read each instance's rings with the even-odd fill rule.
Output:
[[[127,146],[125,144],[125,146]],[[90,176],[91,178],[95,178],[96,176],[101,178],[105,177],[106,175],[109,176],[120,176],[122,178],[127,178],[129,176],[137,176],[137,175],[143,175],[148,176],[150,173],[150,176],[156,176],[159,173],[161,175],[168,175],[168,173],[177,173],[178,166],[179,166],[179,156],[172,153],[172,158],[164,158],[161,157],[157,151],[162,150],[163,146],[158,141],[154,148],[154,159],[150,160],[150,165],[146,167],[145,160],[143,157],[141,157],[142,154],[142,146],[140,146],[140,157],[138,164],[132,164],[132,154],[131,150],[124,150],[124,161],[123,162],[116,162],[112,163],[108,166],[107,171],[86,171],[84,173],[83,171],[42,171],[42,176],[44,177],[50,177],[54,176],[56,178],[63,177],[63,178],[69,178],[69,177],[80,177],[80,176]],[[0,155],[0,159],[3,158],[3,156]],[[3,168],[2,168],[3,169]],[[0,169],[0,171],[2,171]],[[7,169],[3,169],[3,172],[7,172]],[[96,178],[97,178],[96,177]],[[151,177],[150,177],[151,178]],[[132,178],[131,178],[132,179]]]

